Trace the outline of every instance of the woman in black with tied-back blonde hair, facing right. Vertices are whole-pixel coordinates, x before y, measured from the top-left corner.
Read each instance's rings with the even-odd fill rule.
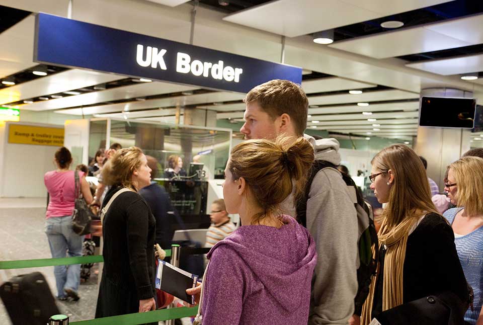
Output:
[[[141,149],[118,150],[103,168],[111,185],[103,206],[104,268],[96,318],[154,310],[155,220],[138,191],[150,184],[151,169]]]

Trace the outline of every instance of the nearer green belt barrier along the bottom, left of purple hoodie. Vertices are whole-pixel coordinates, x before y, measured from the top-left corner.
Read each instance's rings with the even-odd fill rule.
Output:
[[[75,325],[138,325],[159,320],[177,319],[196,315],[198,306],[159,309],[142,313],[126,314],[89,320],[72,321]]]

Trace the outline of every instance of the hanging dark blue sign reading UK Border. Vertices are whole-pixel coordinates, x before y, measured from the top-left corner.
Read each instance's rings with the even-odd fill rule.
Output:
[[[47,14],[36,18],[34,61],[240,93],[302,81],[299,67]]]

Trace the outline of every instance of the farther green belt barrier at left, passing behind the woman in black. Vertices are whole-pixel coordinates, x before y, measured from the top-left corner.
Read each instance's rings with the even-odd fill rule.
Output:
[[[171,256],[171,250],[165,250],[165,252],[166,252],[166,257]],[[102,263],[102,262],[104,262],[102,255],[62,257],[58,259],[1,261],[0,270],[40,268],[44,266],[88,264],[88,263]]]

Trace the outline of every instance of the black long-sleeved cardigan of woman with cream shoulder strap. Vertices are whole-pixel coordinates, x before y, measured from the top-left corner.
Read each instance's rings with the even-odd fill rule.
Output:
[[[104,204],[119,189],[111,189]],[[146,201],[131,191],[119,195],[104,216],[102,232],[103,279],[129,288],[134,300],[154,297],[155,219]]]

